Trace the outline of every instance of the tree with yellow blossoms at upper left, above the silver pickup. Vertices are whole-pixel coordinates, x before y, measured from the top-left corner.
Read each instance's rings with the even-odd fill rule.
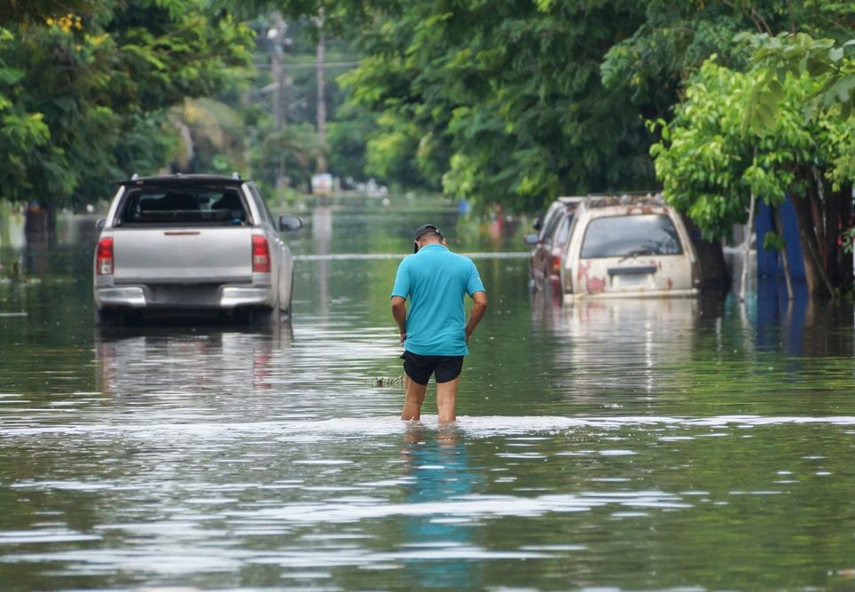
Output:
[[[169,107],[215,93],[250,59],[247,28],[193,0],[109,0],[0,37],[0,198],[75,206],[169,164]]]

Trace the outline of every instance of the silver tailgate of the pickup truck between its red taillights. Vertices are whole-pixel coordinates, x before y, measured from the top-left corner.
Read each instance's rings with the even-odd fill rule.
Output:
[[[251,228],[116,228],[116,283],[252,279]]]

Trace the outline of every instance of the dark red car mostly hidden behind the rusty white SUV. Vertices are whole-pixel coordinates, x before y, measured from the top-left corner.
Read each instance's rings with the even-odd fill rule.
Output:
[[[576,209],[584,200],[581,197],[560,197],[550,204],[540,222],[535,221],[538,233],[525,237],[530,247],[530,278],[536,289],[554,288],[560,290],[561,261],[573,225]]]

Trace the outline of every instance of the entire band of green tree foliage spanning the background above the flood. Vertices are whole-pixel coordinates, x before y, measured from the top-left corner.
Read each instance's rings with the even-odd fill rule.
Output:
[[[516,209],[662,184],[719,237],[752,193],[790,194],[816,285],[848,281],[851,2],[35,0],[0,26],[6,199],[168,166],[305,188],[329,166]]]

